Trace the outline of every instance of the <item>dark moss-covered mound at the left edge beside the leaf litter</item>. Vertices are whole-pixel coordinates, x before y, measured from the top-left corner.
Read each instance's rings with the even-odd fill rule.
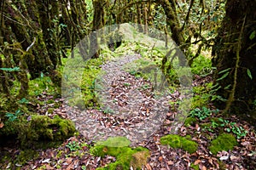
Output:
[[[20,119],[9,122],[1,129],[4,136],[17,136],[23,147],[41,148],[52,147],[59,144],[75,133],[74,123],[70,120],[61,119],[59,116],[32,115],[27,120]]]

